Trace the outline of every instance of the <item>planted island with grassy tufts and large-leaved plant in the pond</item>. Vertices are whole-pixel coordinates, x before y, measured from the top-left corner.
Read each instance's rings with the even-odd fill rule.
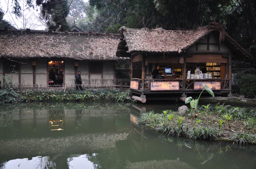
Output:
[[[211,89],[207,85],[204,87],[214,97]],[[185,103],[190,103],[191,110],[183,116],[172,110],[164,110],[161,114],[150,111],[142,114],[138,123],[167,136],[226,140],[237,144],[256,143],[256,108],[224,104],[199,107],[199,98],[200,96],[195,100],[192,97],[186,99]]]

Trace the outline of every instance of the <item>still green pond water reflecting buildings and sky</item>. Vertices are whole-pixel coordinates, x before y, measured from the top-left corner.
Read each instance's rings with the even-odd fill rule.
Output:
[[[180,104],[1,104],[0,168],[256,168],[256,146],[165,137],[141,128],[145,110]]]

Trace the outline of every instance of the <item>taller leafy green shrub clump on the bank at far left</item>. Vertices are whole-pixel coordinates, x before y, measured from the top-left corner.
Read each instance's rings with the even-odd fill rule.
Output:
[[[3,76],[3,87],[0,89],[0,102],[2,103],[15,103],[15,102],[22,102],[24,98],[21,94],[17,93],[16,88],[13,88],[13,81],[9,77]]]

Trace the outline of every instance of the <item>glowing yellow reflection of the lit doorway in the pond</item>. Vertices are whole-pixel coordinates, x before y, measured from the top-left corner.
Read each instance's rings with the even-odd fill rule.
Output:
[[[64,130],[65,115],[63,110],[49,110],[49,130]]]

